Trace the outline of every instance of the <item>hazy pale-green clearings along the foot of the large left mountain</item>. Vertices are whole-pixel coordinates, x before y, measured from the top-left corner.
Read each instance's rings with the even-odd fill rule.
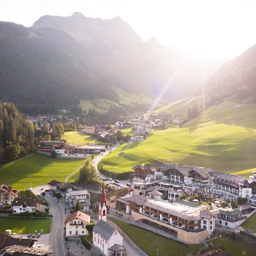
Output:
[[[80,100],[80,107],[83,108],[83,110],[89,110],[89,108],[95,108],[99,112],[106,112],[111,105],[130,105],[130,106],[135,106],[135,104],[153,104],[154,99],[145,96],[143,94],[132,94],[132,93],[127,93],[124,90],[113,86],[112,87],[113,91],[118,95],[119,103],[111,101],[111,100],[106,100],[106,99],[91,99],[91,100]],[[103,110],[101,108],[96,108],[94,106],[96,105],[101,105],[102,107],[106,107],[107,110]],[[164,106],[166,102],[160,101],[157,103],[156,107],[161,107]]]

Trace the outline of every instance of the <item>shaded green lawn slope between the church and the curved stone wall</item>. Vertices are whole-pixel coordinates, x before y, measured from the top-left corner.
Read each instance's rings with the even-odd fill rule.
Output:
[[[203,245],[185,245],[184,243],[167,239],[145,229],[135,227],[129,223],[115,220],[114,218],[109,219],[123,229],[124,232],[130,236],[131,240],[149,255],[156,255],[156,249],[159,250],[159,255],[161,256],[185,256],[188,253],[192,253],[194,255],[203,247]]]

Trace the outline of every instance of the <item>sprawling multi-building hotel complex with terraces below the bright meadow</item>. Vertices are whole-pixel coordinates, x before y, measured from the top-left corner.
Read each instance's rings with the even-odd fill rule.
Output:
[[[208,194],[215,201],[208,204],[180,199],[184,193]],[[221,207],[220,201],[239,197],[247,198],[247,204]],[[162,164],[159,168],[133,167],[130,190],[107,197],[107,205],[181,241],[199,243],[215,230],[215,225],[231,229],[241,225],[256,209],[255,200],[256,172],[253,178],[245,178],[210,168]]]

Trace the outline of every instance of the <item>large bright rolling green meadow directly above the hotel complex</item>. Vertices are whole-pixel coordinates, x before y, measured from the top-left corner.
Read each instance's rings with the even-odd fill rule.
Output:
[[[159,160],[249,176],[256,167],[255,155],[256,130],[208,123],[154,131],[147,141],[123,144],[102,161],[105,169],[117,173]]]

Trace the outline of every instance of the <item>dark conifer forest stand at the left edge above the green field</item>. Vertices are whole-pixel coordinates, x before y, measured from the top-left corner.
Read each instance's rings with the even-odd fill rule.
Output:
[[[13,103],[0,102],[0,162],[11,161],[34,150],[34,129]]]

